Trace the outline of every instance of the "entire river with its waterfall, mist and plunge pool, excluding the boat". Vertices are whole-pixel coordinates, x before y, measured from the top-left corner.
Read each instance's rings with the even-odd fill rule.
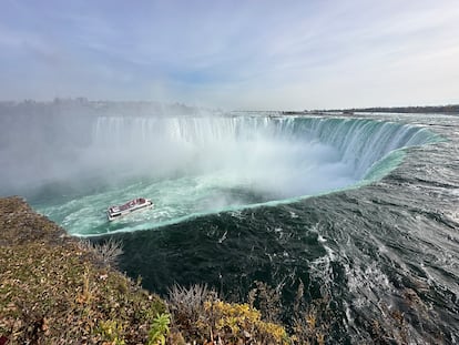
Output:
[[[244,298],[262,281],[289,323],[304,284],[330,343],[459,342],[458,116],[103,114],[52,126],[32,131],[29,153],[3,140],[1,194],[26,195],[73,235],[121,239],[121,268],[145,287],[206,283]],[[136,196],[155,207],[106,221]]]

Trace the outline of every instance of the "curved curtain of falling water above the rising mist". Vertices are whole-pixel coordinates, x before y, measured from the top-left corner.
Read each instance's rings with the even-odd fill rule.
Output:
[[[351,166],[357,180],[389,152],[432,140],[432,133],[409,124],[302,116],[100,116],[93,128],[95,148],[124,158],[147,150],[152,160],[161,162],[165,160],[159,153],[165,151],[182,160],[186,154],[218,159],[225,145],[230,154],[241,153],[234,151],[239,146],[247,149],[244,154],[248,155],[261,144],[326,145],[339,153],[341,163]]]

